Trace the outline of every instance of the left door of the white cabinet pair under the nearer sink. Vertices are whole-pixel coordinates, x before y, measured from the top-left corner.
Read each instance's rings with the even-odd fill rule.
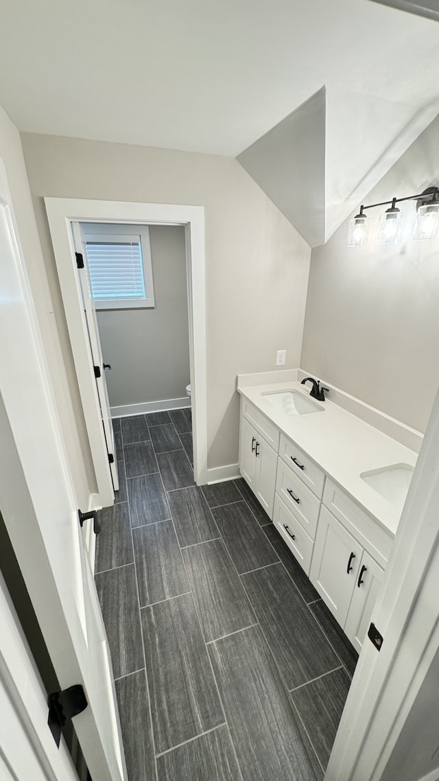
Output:
[[[322,507],[309,577],[342,627],[348,615],[362,552],[354,537],[326,507]]]

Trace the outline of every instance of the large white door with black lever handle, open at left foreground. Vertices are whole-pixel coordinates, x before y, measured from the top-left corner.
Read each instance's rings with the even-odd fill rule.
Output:
[[[59,683],[84,686],[74,726],[91,776],[126,781],[109,647],[1,162],[0,279],[3,519]]]

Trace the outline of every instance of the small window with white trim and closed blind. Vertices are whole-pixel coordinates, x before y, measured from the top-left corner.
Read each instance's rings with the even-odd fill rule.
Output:
[[[97,309],[153,307],[147,226],[81,223]]]

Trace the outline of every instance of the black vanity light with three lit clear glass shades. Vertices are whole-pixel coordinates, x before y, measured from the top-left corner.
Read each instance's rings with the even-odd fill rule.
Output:
[[[359,214],[349,222],[348,247],[359,247],[366,244],[368,234],[368,218],[365,209],[375,209],[377,206],[391,205],[380,216],[377,231],[377,244],[399,244],[402,240],[402,212],[397,203],[401,201],[416,201],[418,217],[413,238],[439,239],[439,187],[427,187],[421,194],[408,195],[406,198],[392,198],[391,201],[371,203],[360,206]]]

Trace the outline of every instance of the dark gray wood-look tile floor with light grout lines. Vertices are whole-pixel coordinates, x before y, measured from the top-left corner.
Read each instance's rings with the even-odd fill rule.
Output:
[[[247,484],[194,485],[190,409],[115,431],[96,585],[129,781],[321,781],[357,654]]]

